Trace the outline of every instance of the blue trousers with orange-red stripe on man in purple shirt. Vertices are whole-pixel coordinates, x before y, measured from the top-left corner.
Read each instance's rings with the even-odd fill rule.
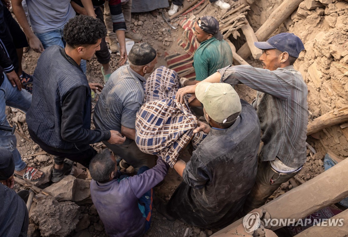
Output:
[[[137,175],[149,170],[149,167],[142,166],[139,170]],[[147,191],[141,198],[139,198],[139,209],[143,213],[143,216],[145,217],[145,232],[150,229],[151,224],[151,215],[152,215],[152,200],[153,200],[153,191],[152,188]]]

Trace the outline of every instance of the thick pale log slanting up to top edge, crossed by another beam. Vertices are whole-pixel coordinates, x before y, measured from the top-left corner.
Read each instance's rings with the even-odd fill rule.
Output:
[[[255,32],[258,41],[265,41],[280,26],[280,24],[282,24],[296,8],[298,8],[302,1],[303,0],[283,1],[283,3],[272,12],[259,30]],[[246,59],[251,54],[248,44],[243,44],[243,46],[237,51],[237,54]]]

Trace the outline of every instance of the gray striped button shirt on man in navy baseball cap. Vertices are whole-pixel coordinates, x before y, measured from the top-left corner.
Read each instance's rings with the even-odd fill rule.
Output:
[[[278,157],[289,167],[303,165],[309,112],[308,89],[301,73],[292,65],[274,71],[249,65],[228,66],[218,71],[221,82],[243,83],[258,91],[253,107],[262,131],[261,160]]]

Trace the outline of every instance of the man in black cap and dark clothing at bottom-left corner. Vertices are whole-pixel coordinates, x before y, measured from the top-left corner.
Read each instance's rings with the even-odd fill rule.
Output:
[[[26,205],[14,190],[15,164],[12,153],[0,147],[0,236],[26,236],[29,215]],[[6,216],[6,218],[5,218]]]

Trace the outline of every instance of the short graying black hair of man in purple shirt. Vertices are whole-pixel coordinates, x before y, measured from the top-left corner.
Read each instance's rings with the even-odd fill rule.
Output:
[[[89,163],[89,173],[92,179],[98,182],[107,181],[115,170],[115,162],[111,160],[108,149],[96,154]]]

